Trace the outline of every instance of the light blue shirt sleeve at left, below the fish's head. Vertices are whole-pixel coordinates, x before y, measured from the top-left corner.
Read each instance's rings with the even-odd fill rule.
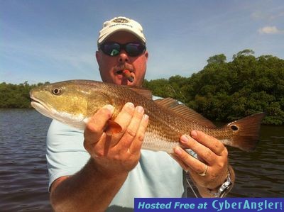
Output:
[[[46,160],[48,163],[49,184],[62,176],[80,171],[89,160],[84,149],[84,135],[68,125],[53,120],[46,138]]]

